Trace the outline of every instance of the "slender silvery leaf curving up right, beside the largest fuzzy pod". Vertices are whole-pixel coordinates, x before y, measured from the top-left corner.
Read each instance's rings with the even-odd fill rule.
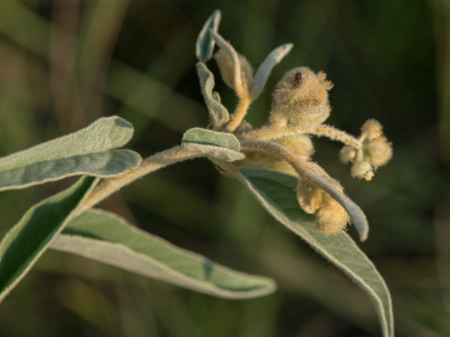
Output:
[[[283,60],[285,55],[288,55],[293,46],[293,44],[283,44],[283,46],[275,48],[274,51],[271,51],[271,53],[267,55],[264,62],[262,62],[259,66],[252,81],[251,95],[253,100],[255,100],[262,93],[272,69],[274,69],[274,67],[278,65],[281,60]]]

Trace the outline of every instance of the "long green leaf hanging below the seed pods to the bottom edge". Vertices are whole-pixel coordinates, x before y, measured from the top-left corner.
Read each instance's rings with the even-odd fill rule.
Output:
[[[314,217],[304,213],[297,202],[298,178],[279,171],[250,168],[239,169],[238,178],[271,216],[366,291],[375,305],[383,336],[393,337],[392,301],[383,277],[346,232],[326,235],[314,231]]]

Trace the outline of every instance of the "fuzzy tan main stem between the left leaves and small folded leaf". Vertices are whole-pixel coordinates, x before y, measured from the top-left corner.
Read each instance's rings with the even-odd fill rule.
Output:
[[[101,180],[101,182],[98,183],[95,189],[91,192],[89,197],[80,206],[78,214],[90,209],[98,204],[98,202],[102,201],[106,197],[109,197],[110,194],[113,194],[125,185],[134,182],[134,180],[141,178],[148,173],[157,171],[165,166],[175,164],[179,161],[199,157],[205,157],[205,154],[186,150],[180,145],[172,147],[172,149],[153,154],[153,156],[144,159],[136,170],[130,171],[123,176]]]

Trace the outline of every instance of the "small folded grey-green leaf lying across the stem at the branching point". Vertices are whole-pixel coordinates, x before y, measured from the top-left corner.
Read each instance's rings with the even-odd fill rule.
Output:
[[[236,136],[232,133],[211,131],[206,128],[191,128],[186,131],[181,146],[224,161],[245,158],[245,154],[239,152],[240,143]]]

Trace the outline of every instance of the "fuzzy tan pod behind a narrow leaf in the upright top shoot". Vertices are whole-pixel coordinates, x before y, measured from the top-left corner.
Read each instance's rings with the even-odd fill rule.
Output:
[[[244,55],[238,54],[238,56],[240,64],[240,77],[242,79],[243,86],[245,88],[250,88],[253,79],[252,65],[250,65],[250,62],[248,62]],[[226,51],[224,51],[224,49],[219,49],[219,51],[214,54],[214,59],[219,66],[220,74],[226,85],[235,90],[233,62],[231,62],[229,55]]]

